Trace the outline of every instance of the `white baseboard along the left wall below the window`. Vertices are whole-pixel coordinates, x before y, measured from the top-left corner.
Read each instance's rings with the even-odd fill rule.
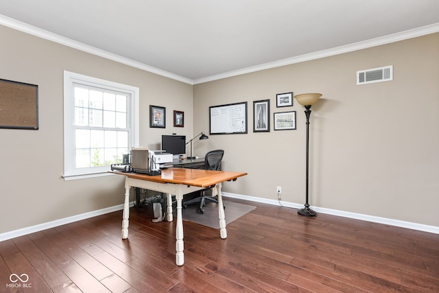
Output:
[[[130,203],[130,207],[132,207],[132,206],[134,206],[134,202]],[[54,227],[61,226],[64,224],[70,224],[70,223],[77,222],[80,220],[93,218],[93,217],[96,217],[97,215],[104,215],[106,213],[112,213],[113,211],[120,211],[121,209],[123,209],[123,204],[118,204],[118,205],[115,205],[113,207],[107,207],[105,209],[98,209],[97,211],[89,211],[88,213],[81,213],[79,215],[72,215],[71,217],[63,218],[60,220],[55,220],[55,221],[46,222],[43,224],[38,224],[35,226],[29,226],[29,227],[21,228],[18,230],[1,233],[0,234],[0,242],[8,240],[8,239],[12,239],[12,238],[20,237],[23,235],[36,233],[36,232],[43,231],[43,230],[46,230],[49,228],[54,228]]]

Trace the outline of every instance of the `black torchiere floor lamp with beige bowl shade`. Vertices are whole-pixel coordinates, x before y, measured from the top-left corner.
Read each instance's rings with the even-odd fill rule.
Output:
[[[305,106],[305,116],[307,117],[307,176],[306,176],[306,198],[305,207],[299,209],[297,213],[299,215],[304,215],[305,217],[316,217],[317,213],[312,209],[309,209],[308,203],[308,176],[309,176],[309,116],[311,115],[311,106],[318,102],[318,99],[322,94],[320,93],[303,93],[301,95],[295,95],[294,98],[297,102]]]

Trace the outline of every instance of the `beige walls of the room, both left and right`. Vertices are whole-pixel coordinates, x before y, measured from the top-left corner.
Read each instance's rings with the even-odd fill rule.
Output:
[[[210,135],[194,154],[223,148],[224,169],[248,176],[233,194],[305,200],[305,115],[276,108],[276,93],[319,92],[311,114],[310,203],[439,226],[439,34],[191,86],[0,26],[0,78],[38,84],[39,130],[0,129],[0,233],[121,204],[123,178],[64,181],[64,70],[139,86],[140,144],[161,134],[209,132],[209,106],[248,102],[248,134]],[[394,80],[357,86],[355,73],[394,66]],[[296,110],[297,130],[252,132],[252,102]],[[149,128],[149,106],[165,106],[167,128]],[[185,111],[185,128],[172,127]],[[189,152],[189,150],[188,150]]]

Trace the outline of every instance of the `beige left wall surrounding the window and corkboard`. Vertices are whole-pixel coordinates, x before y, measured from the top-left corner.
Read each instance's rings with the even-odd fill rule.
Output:
[[[39,130],[0,129],[0,233],[112,207],[123,202],[123,178],[64,181],[63,71],[140,88],[140,145],[161,134],[192,134],[193,86],[0,26],[0,78],[38,84]],[[166,107],[166,129],[149,127],[149,106]],[[185,112],[174,128],[173,110]],[[0,114],[1,115],[1,114]]]

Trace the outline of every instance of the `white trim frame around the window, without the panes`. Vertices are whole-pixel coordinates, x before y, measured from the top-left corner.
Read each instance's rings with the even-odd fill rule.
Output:
[[[90,172],[76,169],[75,166],[75,141],[74,141],[74,106],[73,99],[74,84],[86,84],[112,91],[122,91],[130,93],[130,126],[131,126],[131,146],[139,147],[139,88],[117,82],[110,82],[99,78],[92,78],[87,75],[64,71],[64,180],[76,180],[111,175],[108,173],[110,168],[98,172]]]

